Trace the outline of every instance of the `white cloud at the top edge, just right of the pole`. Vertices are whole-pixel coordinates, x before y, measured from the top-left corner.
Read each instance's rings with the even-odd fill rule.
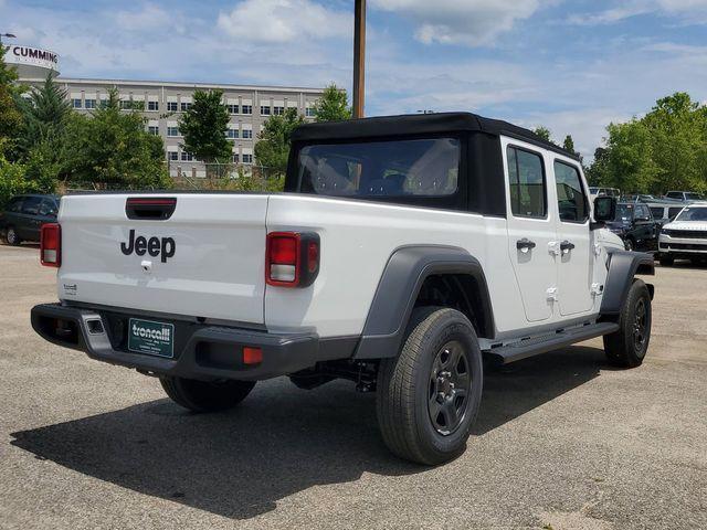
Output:
[[[372,0],[371,7],[410,17],[418,29],[415,36],[431,44],[493,43],[500,33],[513,29],[518,20],[532,15],[547,0]]]

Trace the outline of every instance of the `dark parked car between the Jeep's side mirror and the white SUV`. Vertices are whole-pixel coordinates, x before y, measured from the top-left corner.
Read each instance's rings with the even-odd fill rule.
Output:
[[[606,227],[619,235],[627,251],[657,251],[659,224],[653,219],[651,209],[641,202],[616,204],[614,221]]]

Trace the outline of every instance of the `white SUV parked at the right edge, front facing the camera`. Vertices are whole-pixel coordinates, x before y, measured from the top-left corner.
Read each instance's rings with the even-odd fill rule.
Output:
[[[661,265],[673,265],[678,258],[707,259],[707,202],[685,206],[674,221],[663,225],[658,252]]]

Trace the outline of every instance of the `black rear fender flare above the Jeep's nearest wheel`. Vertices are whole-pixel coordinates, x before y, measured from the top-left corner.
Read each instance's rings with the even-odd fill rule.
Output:
[[[485,311],[481,336],[493,338],[495,325],[484,269],[474,256],[454,246],[403,246],[386,265],[368,311],[355,359],[397,357],[422,284],[430,275],[465,274],[477,285]]]

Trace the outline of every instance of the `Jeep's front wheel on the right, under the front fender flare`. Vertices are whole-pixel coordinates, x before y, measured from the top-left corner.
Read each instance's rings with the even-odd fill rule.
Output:
[[[604,336],[606,359],[614,365],[635,368],[643,363],[651,340],[651,293],[635,279],[619,316],[619,330]]]

